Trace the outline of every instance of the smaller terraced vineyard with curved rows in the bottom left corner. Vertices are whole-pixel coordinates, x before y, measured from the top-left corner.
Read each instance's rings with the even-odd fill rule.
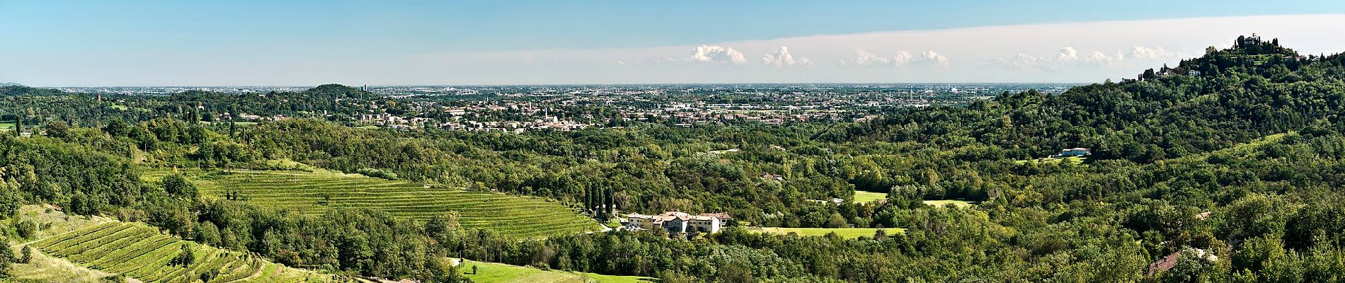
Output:
[[[188,244],[195,260],[169,262]],[[125,275],[140,282],[194,282],[217,272],[210,282],[327,282],[327,275],[288,268],[242,252],[225,251],[167,236],[141,223],[102,223],[31,244],[55,258],[89,268]]]

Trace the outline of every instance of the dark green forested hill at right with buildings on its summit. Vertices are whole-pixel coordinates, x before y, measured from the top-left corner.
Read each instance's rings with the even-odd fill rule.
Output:
[[[1153,162],[1338,121],[1345,56],[1302,56],[1278,40],[1237,43],[1135,79],[1060,95],[1006,93],[964,109],[905,110],[830,138],[986,146],[976,149],[983,160],[1092,148],[1099,158]]]

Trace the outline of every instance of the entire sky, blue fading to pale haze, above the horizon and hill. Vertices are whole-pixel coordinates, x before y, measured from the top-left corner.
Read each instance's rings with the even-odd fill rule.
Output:
[[[1338,27],[1325,0],[0,0],[0,82],[1100,82],[1254,32],[1341,52]]]

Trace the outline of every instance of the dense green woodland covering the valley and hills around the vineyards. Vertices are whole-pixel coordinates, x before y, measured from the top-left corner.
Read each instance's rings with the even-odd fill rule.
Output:
[[[16,110],[7,117],[35,134],[0,137],[0,215],[47,203],[288,266],[426,282],[465,280],[445,258],[664,282],[1340,282],[1342,87],[1345,56],[1299,58],[1274,42],[1240,40],[1138,80],[901,109],[865,123],[506,134],[202,122],[211,117],[202,110],[315,111],[335,98],[369,98],[340,86],[128,98],[159,105],[151,110],[7,86],[3,106]],[[1014,162],[1076,146],[1093,149],[1092,158]],[[274,160],[543,196],[597,217],[611,212],[596,208],[615,205],[724,211],[761,227],[907,231],[857,240],[729,228],[519,241],[461,228],[455,215],[305,217],[199,196],[182,176],[141,178],[164,168],[272,169]],[[850,200],[855,189],[888,200],[808,201]],[[979,203],[920,203],[943,199]],[[1171,253],[1182,255],[1171,270],[1149,272]]]

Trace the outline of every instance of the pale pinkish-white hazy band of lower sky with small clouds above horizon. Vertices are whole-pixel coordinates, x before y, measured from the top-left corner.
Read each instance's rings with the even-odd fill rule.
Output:
[[[1100,82],[1176,64],[1237,35],[1345,51],[1345,15],[1193,17],[816,35],[703,44],[276,59],[257,50],[155,58],[0,54],[30,86]],[[90,48],[94,48],[90,46]],[[315,47],[320,48],[320,47]]]

